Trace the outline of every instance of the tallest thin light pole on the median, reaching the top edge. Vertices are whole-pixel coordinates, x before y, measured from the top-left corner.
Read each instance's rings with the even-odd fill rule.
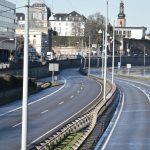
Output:
[[[107,73],[107,24],[108,24],[108,1],[106,11],[106,27],[105,27],[105,63],[104,63],[104,101],[106,101],[106,73]]]

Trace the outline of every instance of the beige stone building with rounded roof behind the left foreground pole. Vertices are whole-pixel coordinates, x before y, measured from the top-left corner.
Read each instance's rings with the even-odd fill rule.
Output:
[[[29,43],[40,58],[45,58],[50,51],[50,15],[50,9],[45,4],[34,3],[29,9]],[[16,13],[17,36],[24,36],[24,19],[23,13]]]

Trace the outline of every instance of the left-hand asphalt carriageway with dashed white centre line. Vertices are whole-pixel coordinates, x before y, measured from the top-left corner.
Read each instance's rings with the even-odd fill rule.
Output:
[[[64,70],[61,76],[65,78],[63,86],[29,97],[29,147],[81,115],[101,91],[95,80],[80,75],[77,69]],[[20,149],[21,111],[21,101],[0,107],[0,150]]]

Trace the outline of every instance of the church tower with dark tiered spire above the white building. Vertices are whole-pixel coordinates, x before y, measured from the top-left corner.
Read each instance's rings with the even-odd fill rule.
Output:
[[[122,0],[120,3],[120,8],[119,8],[117,26],[118,27],[125,27],[126,26],[126,18],[125,18],[125,14],[124,14],[124,3]]]

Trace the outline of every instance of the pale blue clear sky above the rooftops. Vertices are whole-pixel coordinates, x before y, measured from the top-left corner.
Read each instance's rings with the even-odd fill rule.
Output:
[[[8,0],[20,7],[26,4],[27,0]],[[117,20],[119,4],[121,0],[108,0],[108,17],[110,23]],[[30,0],[34,2],[44,2],[50,7],[53,13],[70,13],[76,11],[85,17],[100,12],[106,16],[106,0]],[[147,27],[150,31],[150,1],[149,0],[123,0],[126,14],[126,26],[128,27]],[[17,12],[22,12],[18,9]]]

